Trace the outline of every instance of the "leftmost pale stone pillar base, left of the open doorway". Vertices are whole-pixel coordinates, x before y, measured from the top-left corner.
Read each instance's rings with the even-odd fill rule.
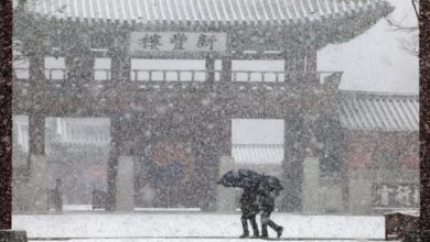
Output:
[[[30,155],[30,179],[25,186],[24,204],[28,212],[47,211],[46,156]]]

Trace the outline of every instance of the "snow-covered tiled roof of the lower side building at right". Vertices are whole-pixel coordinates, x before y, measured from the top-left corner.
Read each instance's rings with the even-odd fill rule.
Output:
[[[387,95],[343,91],[340,121],[348,130],[418,131],[419,100],[417,95]]]

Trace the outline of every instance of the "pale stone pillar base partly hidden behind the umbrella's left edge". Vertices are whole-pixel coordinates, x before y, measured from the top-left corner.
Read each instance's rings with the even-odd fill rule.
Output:
[[[222,156],[219,158],[219,176],[221,178],[225,173],[235,167],[235,160],[230,156]],[[236,208],[235,190],[226,188],[223,185],[216,187],[216,201],[218,212],[233,212]]]

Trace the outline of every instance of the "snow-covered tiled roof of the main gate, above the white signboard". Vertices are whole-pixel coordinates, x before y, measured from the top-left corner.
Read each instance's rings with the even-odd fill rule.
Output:
[[[127,23],[294,23],[386,9],[383,0],[33,0],[55,19]],[[375,13],[374,13],[375,14]]]

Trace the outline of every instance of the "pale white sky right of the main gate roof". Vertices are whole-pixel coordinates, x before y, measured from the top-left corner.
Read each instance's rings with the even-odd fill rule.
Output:
[[[391,13],[405,25],[417,25],[409,0],[389,0]],[[340,89],[418,94],[418,58],[405,52],[401,38],[411,34],[393,31],[385,19],[366,33],[318,53],[319,70],[344,72]]]

